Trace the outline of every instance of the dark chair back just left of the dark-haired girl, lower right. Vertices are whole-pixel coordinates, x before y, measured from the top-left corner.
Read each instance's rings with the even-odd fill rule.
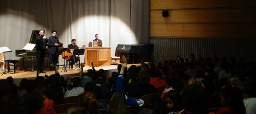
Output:
[[[219,94],[213,94],[209,98],[209,108],[221,107]]]

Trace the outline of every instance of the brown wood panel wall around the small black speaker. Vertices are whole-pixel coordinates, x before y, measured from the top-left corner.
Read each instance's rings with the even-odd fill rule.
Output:
[[[255,26],[256,0],[150,0],[150,37],[256,38]]]

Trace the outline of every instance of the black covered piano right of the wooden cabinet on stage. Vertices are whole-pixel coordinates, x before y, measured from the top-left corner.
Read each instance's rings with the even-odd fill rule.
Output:
[[[115,56],[126,56],[128,64],[150,61],[150,53],[154,52],[154,44],[118,44]],[[121,62],[121,61],[120,61]]]

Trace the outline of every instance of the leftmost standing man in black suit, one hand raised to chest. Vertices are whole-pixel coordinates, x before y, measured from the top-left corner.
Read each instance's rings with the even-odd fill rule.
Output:
[[[39,76],[39,73],[45,73],[43,71],[44,68],[44,55],[45,55],[45,49],[46,47],[46,36],[44,35],[44,31],[41,29],[39,30],[39,36],[36,36],[36,55],[37,55],[37,77]]]

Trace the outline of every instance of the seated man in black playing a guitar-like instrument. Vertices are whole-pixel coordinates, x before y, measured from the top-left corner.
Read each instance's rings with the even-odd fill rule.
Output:
[[[68,52],[73,53],[73,50],[78,49],[78,46],[75,45],[76,44],[76,40],[75,39],[72,39],[71,42],[72,43],[68,45],[68,47],[70,48],[70,50]],[[69,66],[71,65],[71,68],[73,68],[73,64],[75,64],[76,62],[79,61],[79,57],[78,57],[78,55],[73,55],[73,56],[70,57],[69,60],[71,60],[71,63],[69,64]]]

